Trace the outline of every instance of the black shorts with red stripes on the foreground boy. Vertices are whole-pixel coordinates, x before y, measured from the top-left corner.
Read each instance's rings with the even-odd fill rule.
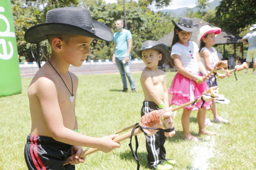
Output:
[[[75,165],[63,166],[63,161],[71,156],[71,145],[47,136],[28,135],[24,149],[29,170],[74,170]]]

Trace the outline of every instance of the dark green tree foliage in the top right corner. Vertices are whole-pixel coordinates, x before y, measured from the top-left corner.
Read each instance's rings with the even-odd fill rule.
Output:
[[[215,23],[238,34],[241,28],[256,23],[256,0],[222,0],[216,8]]]

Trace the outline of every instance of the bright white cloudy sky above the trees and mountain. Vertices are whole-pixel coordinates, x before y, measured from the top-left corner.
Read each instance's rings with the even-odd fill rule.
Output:
[[[105,0],[106,3],[116,3],[117,0]],[[209,0],[209,3],[213,0]],[[193,8],[196,6],[196,0],[172,0],[171,5],[163,9]],[[151,9],[151,7],[150,7]]]

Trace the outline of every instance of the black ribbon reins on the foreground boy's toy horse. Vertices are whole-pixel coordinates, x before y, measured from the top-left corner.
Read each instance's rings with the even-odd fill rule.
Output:
[[[131,135],[130,135],[130,143],[129,143],[129,147],[131,149],[131,152],[132,152],[132,156],[135,158],[135,160],[137,161],[137,170],[140,169],[140,162],[138,160],[138,157],[137,157],[137,150],[138,150],[138,138],[137,138],[137,135],[135,135],[135,152],[132,148],[132,135],[134,134],[134,131],[135,129],[137,128],[140,128],[142,132],[144,132],[143,129],[151,129],[151,130],[163,130],[165,132],[172,132],[174,131],[174,127],[170,128],[170,129],[158,129],[158,128],[153,128],[153,127],[144,127],[144,126],[141,126],[139,123],[136,123],[133,128],[132,128],[132,132],[131,132]]]

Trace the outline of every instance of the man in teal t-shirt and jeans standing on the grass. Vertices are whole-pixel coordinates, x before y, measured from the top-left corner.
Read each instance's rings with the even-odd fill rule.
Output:
[[[132,49],[132,34],[129,30],[124,29],[124,22],[122,20],[117,20],[115,22],[115,28],[118,29],[118,32],[114,34],[114,54],[112,62],[118,67],[118,70],[121,75],[123,82],[122,92],[128,91],[127,76],[132,92],[136,92],[134,80],[132,73],[130,71],[130,58],[131,58],[131,49]]]

